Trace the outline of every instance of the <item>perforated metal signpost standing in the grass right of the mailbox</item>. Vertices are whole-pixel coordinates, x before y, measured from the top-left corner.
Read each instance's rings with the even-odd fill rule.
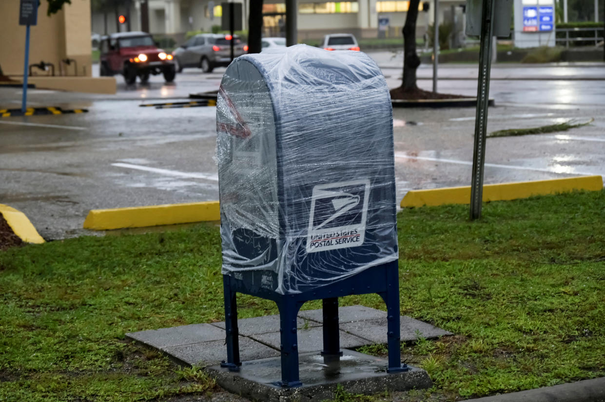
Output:
[[[483,202],[483,168],[485,165],[485,131],[488,124],[489,72],[491,68],[492,36],[494,36],[494,1],[483,0],[481,48],[479,50],[479,85],[475,117],[473,177],[471,178],[471,220],[481,217]]]

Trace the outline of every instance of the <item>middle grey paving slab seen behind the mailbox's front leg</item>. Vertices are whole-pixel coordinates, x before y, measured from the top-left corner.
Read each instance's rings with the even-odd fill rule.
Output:
[[[386,330],[385,330],[386,333]],[[312,327],[306,330],[296,331],[298,335],[298,351],[300,353],[321,351],[324,346],[323,327]],[[280,349],[281,340],[280,333],[273,332],[269,334],[259,334],[250,336],[252,339],[258,340],[265,345]],[[368,341],[355,335],[347,334],[340,331],[341,348],[356,348],[358,346],[367,345]]]

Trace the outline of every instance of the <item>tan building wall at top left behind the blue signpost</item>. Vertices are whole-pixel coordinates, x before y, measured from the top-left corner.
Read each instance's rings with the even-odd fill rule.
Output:
[[[48,2],[41,0],[38,25],[30,28],[30,62],[54,64],[59,75],[60,60],[74,59],[77,75],[91,75],[90,0],[72,0],[64,9],[47,16]],[[5,75],[23,75],[25,26],[19,25],[19,0],[0,0],[0,66]],[[67,71],[65,71],[67,69]],[[64,65],[73,75],[74,65]],[[33,74],[45,75],[34,68]]]

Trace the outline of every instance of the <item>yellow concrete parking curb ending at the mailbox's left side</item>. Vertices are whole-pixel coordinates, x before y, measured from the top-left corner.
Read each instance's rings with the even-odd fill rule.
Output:
[[[104,231],[220,219],[218,201],[92,209],[84,220],[84,229]]]

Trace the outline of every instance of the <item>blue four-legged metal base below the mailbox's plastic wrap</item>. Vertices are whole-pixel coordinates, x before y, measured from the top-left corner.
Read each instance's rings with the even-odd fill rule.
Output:
[[[223,275],[227,362],[221,366],[237,371],[240,362],[237,328],[236,292],[258,296],[275,301],[280,310],[281,333],[281,381],[284,388],[295,388],[302,383],[298,374],[298,340],[296,336],[296,316],[302,305],[311,300],[322,299],[324,317],[324,348],[322,356],[327,362],[336,363],[342,356],[338,329],[338,298],[348,295],[378,293],[387,304],[388,372],[407,371],[401,364],[401,337],[399,328],[399,266],[397,261],[368,268],[350,278],[316,289],[302,290],[301,293],[280,295],[274,290],[251,286],[260,283],[258,275],[265,272],[242,272],[239,279]],[[256,281],[254,279],[257,279]]]

